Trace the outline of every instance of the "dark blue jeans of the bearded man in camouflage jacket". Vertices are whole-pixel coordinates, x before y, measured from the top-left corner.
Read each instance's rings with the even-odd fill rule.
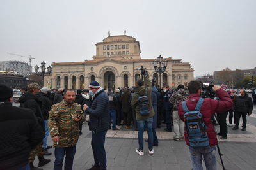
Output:
[[[67,148],[55,148],[54,154],[55,154],[55,162],[54,162],[54,170],[62,170],[63,166],[63,159],[66,153],[65,157],[65,170],[71,170],[73,167],[73,159],[76,153],[76,145],[73,147],[67,147]]]

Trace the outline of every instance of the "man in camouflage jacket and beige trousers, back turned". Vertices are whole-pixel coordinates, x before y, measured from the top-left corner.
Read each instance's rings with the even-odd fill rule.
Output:
[[[174,136],[173,139],[175,141],[179,141],[184,139],[184,122],[180,120],[178,115],[178,107],[182,101],[186,101],[189,96],[189,92],[184,89],[184,85],[178,85],[177,92],[174,92],[170,97],[170,103],[173,105],[173,130]]]

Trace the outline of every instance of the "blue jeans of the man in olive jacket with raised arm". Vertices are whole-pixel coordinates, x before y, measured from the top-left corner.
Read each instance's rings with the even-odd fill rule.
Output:
[[[147,118],[145,120],[137,120],[137,124],[138,124],[138,130],[139,130],[138,132],[139,150],[143,150],[143,133],[144,133],[145,127],[147,127],[147,132],[148,132],[148,149],[152,150],[153,148],[153,131],[152,131],[153,117]]]

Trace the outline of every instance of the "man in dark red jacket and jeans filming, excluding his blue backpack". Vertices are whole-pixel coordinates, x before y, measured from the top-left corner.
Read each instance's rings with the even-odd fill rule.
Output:
[[[189,111],[195,110],[195,106],[200,98],[201,94],[201,83],[198,81],[190,81],[188,84],[189,90],[189,98],[186,100],[186,104],[188,106]],[[204,103],[202,104],[202,108],[200,113],[202,113],[204,118],[204,123],[207,127],[207,136],[209,138],[209,146],[204,148],[193,148],[189,146],[188,140],[188,132],[185,129],[185,140],[187,145],[189,146],[189,152],[191,153],[191,160],[193,170],[201,170],[202,167],[202,157],[205,160],[205,166],[207,170],[216,170],[216,157],[215,150],[216,145],[218,144],[216,138],[216,132],[214,129],[214,125],[211,122],[211,117],[214,113],[221,113],[223,111],[228,111],[232,108],[232,100],[225,90],[221,89],[220,86],[214,85],[213,89],[215,90],[216,96],[220,97],[220,100],[213,100],[210,98],[205,98]],[[178,114],[181,120],[184,121],[184,110],[182,108],[182,104],[179,104]]]

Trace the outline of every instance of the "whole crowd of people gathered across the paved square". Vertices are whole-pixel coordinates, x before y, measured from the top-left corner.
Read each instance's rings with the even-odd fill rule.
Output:
[[[234,125],[233,130],[238,129],[241,116],[241,130],[246,131],[246,116],[252,114],[253,104],[244,90],[240,90],[239,95],[225,92],[219,86],[214,86],[213,90],[217,99],[203,99],[202,85],[198,81],[191,81],[188,87],[179,85],[172,89],[168,85],[156,86],[147,74],[136,81],[136,87],[117,89],[103,89],[97,81],[92,81],[88,89],[78,90],[50,90],[31,83],[20,88],[20,107],[14,107],[12,89],[0,85],[0,131],[3,134],[0,137],[0,169],[42,169],[40,167],[51,161],[45,158],[52,154],[49,152],[52,146],[47,145],[49,135],[55,148],[54,169],[62,169],[65,155],[64,167],[72,169],[84,121],[88,121],[92,131],[95,164],[90,169],[107,168],[104,143],[108,129],[138,131],[136,152],[144,155],[143,132],[146,130],[148,134],[145,139],[148,153],[154,154],[153,146],[159,145],[156,129],[161,127],[166,132],[174,132],[173,140],[186,140],[194,170],[202,169],[202,157],[207,169],[216,169],[215,113],[220,125],[217,135],[227,139],[227,125]],[[200,121],[193,122],[198,126],[189,124],[191,111],[202,116]],[[193,141],[189,131],[199,127],[203,127],[200,132],[206,134],[207,144],[204,143],[204,147],[194,146],[201,141]],[[34,165],[36,155],[38,167]]]

